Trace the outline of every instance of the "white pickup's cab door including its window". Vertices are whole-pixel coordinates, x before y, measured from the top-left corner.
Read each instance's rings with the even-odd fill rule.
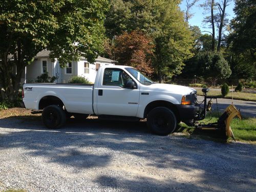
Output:
[[[127,81],[135,83],[135,89],[125,88]],[[137,83],[123,70],[106,68],[103,80],[98,83],[97,112],[100,115],[136,116],[140,90]]]

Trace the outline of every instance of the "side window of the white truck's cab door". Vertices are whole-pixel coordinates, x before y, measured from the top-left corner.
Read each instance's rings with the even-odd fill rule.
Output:
[[[120,69],[105,69],[103,75],[103,86],[119,86],[124,88],[127,81],[132,81],[132,78]]]

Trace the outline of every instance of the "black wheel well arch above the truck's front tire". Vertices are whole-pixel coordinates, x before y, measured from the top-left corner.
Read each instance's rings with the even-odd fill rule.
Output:
[[[158,100],[158,101],[153,101],[151,103],[148,103],[144,110],[144,118],[147,117],[148,113],[150,113],[151,110],[153,110],[154,108],[157,108],[159,106],[163,106],[165,108],[172,110],[177,118],[177,122],[180,121],[180,114],[179,114],[179,111],[178,111],[177,107],[175,106],[175,104],[168,102],[168,101],[163,101],[163,100]]]

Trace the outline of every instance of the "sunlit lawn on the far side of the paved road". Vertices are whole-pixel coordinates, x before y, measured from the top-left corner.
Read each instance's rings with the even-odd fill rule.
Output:
[[[202,88],[195,88],[197,90],[197,95],[203,95]],[[217,96],[222,98],[221,91],[210,89],[209,96]],[[232,92],[229,92],[224,98],[231,99]],[[246,101],[256,101],[255,93],[246,93],[246,92],[233,92],[233,99],[246,100]]]

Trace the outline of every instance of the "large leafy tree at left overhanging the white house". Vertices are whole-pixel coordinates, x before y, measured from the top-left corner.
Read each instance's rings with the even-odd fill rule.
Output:
[[[25,66],[41,50],[50,50],[51,58],[59,58],[62,66],[80,56],[93,61],[103,50],[107,3],[106,0],[1,1],[2,97],[16,99]]]

